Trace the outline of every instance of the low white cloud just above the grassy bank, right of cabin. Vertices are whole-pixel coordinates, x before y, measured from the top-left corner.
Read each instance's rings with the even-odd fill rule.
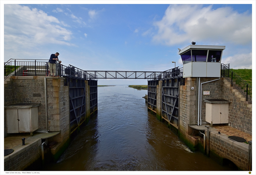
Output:
[[[231,69],[252,69],[252,53],[228,56],[223,58],[221,63],[230,63]]]

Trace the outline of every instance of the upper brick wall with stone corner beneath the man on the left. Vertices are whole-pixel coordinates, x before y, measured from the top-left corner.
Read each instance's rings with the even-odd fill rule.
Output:
[[[66,141],[69,138],[70,125],[68,86],[64,86],[65,78],[46,78],[48,123],[46,123],[45,77],[12,76],[10,80],[4,85],[4,105],[40,103],[39,130],[61,131],[60,141]],[[4,136],[7,136],[6,125]]]

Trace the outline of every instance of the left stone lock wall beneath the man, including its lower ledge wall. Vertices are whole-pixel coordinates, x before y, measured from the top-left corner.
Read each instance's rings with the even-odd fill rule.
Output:
[[[48,138],[49,142],[57,142],[51,148],[56,161],[70,143],[70,97],[69,86],[65,78],[41,76],[11,76],[4,81],[4,105],[18,103],[40,103],[38,106],[38,130],[60,132]],[[86,116],[90,117],[90,86],[85,80]],[[6,112],[4,110],[4,137],[7,137]],[[42,156],[42,140],[29,146],[23,146],[18,153],[11,154],[4,163],[5,170],[21,170]]]

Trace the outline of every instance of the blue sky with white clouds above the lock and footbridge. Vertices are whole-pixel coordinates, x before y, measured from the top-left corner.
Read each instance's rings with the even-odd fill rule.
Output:
[[[178,48],[183,49],[193,41],[198,45],[225,45],[222,63],[230,63],[234,69],[252,69],[253,54],[255,58],[254,1],[240,1],[251,4],[3,2],[1,59],[4,61],[49,59],[52,53],[59,52],[63,65],[83,70],[164,71],[174,68],[171,61],[183,66]],[[98,84],[147,84],[147,81],[100,79]]]

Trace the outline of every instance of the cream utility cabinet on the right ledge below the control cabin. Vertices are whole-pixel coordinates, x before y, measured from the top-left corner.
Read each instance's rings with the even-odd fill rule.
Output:
[[[230,101],[224,99],[204,99],[205,121],[212,124],[228,123]]]

